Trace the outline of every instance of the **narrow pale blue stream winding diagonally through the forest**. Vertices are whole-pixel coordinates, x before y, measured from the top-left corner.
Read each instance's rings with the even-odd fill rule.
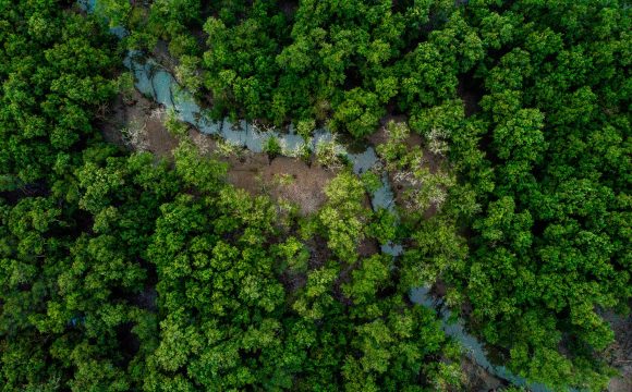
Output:
[[[95,10],[96,1],[78,0],[77,3],[80,8],[92,13]],[[119,38],[126,35],[125,29],[122,27],[113,27],[110,32]],[[167,109],[174,110],[180,120],[193,125],[202,133],[221,137],[232,145],[247,148],[253,152],[263,152],[266,140],[270,137],[276,137],[282,146],[283,155],[290,157],[295,157],[304,144],[307,144],[312,151],[315,151],[319,144],[335,140],[333,134],[326,128],[316,130],[314,136],[305,140],[301,135],[296,134],[292,125],[289,126],[287,132],[281,132],[279,130],[263,131],[244,120],[238,123],[232,123],[228,119],[212,121],[207,114],[207,110],[202,109],[194,97],[182,89],[174,76],[156,60],[146,58],[137,51],[129,51],[123,64],[133,72],[135,87],[141,94],[151,97],[154,101],[165,106]],[[336,144],[336,148],[339,155],[347,157],[353,164],[353,172],[356,174],[380,167],[373,146],[368,146],[360,152],[350,152],[348,148],[339,143]],[[381,186],[370,195],[370,204],[374,210],[385,208],[393,213],[396,212],[394,195],[388,173],[384,170],[381,171]],[[384,254],[393,257],[400,256],[404,252],[400,244],[389,243],[382,244],[380,247]],[[524,378],[513,375],[505,366],[493,364],[487,357],[483,343],[466,332],[463,320],[451,320],[451,311],[441,299],[435,298],[430,294],[429,286],[411,290],[410,298],[414,304],[435,309],[446,334],[457,340],[464,348],[464,353],[490,375],[534,392],[549,391],[542,384],[530,383]]]

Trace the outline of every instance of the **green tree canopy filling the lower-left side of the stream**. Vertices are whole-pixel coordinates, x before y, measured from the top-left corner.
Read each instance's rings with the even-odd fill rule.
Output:
[[[107,113],[99,106],[127,93],[129,77],[111,72],[121,59],[105,25],[47,4],[2,3],[4,390],[459,382],[434,313],[393,290],[391,260],[357,254],[358,238],[375,241],[358,179],[335,179],[326,209],[305,223],[228,185],[226,164],[203,158],[173,114],[167,127],[182,138],[173,162],[104,144],[93,127]],[[153,12],[173,17],[180,5],[155,2]],[[101,12],[121,10],[105,2]],[[135,10],[121,16],[134,25]],[[190,23],[192,12],[174,21]],[[47,24],[60,34],[37,33]],[[295,235],[302,224],[327,237],[326,266],[314,265],[312,238]]]

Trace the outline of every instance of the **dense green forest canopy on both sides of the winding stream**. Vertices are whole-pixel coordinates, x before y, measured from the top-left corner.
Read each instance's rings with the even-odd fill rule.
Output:
[[[467,390],[423,285],[513,373],[605,390],[603,315],[632,305],[630,13],[0,0],[2,390]],[[127,50],[163,44],[216,119],[379,138],[396,209],[344,159],[302,215],[230,184],[175,121],[168,158],[106,142]]]

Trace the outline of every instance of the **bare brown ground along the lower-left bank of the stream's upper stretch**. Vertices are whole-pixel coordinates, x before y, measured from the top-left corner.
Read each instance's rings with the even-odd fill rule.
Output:
[[[108,142],[171,158],[179,140],[165,127],[165,119],[163,109],[134,91],[131,100],[117,99],[101,130]],[[211,137],[193,128],[189,136],[203,152],[217,157],[217,143]],[[266,154],[246,150],[219,159],[229,163],[229,183],[253,195],[267,194],[276,201],[295,205],[304,216],[317,211],[325,203],[325,186],[336,174],[300,159],[269,160]]]

